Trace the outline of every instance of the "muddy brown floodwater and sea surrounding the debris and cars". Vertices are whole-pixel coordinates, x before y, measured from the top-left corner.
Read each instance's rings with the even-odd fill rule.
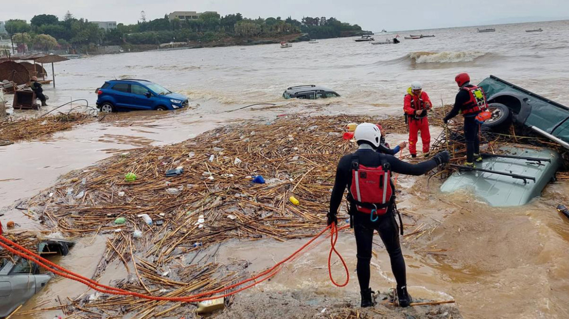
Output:
[[[544,31],[525,33],[539,27]],[[399,34],[409,36],[407,33]],[[14,220],[20,229],[40,230],[36,221],[14,208],[20,198],[37,194],[62,174],[128,149],[171,144],[227,123],[270,121],[286,114],[400,115],[405,90],[415,80],[423,82],[434,104],[441,100],[453,102],[453,78],[463,71],[476,82],[494,74],[569,104],[567,21],[497,26],[494,33],[476,33],[476,28],[412,33],[436,37],[402,40],[398,45],[329,39],[319,40],[318,44],[295,43],[288,49],[259,45],[123,53],[56,64],[57,87],[46,87],[50,107],[42,111],[75,99],[86,99],[93,106],[94,91],[114,78],[145,78],[160,83],[187,95],[190,106],[176,112],[109,115],[105,121],[80,125],[42,140],[1,146],[0,206],[7,207],[2,221]],[[376,40],[384,40],[382,37],[378,35]],[[313,83],[331,87],[342,96],[317,101],[281,98],[288,86]],[[254,103],[275,105],[237,110]],[[37,114],[41,113],[15,111],[15,116]],[[438,135],[436,128],[432,132]],[[403,140],[405,135],[387,136],[393,145]],[[398,207],[418,216],[420,222],[436,225],[420,238],[402,239],[411,295],[455,299],[465,318],[568,318],[569,220],[555,207],[569,204],[569,183],[551,183],[541,198],[510,208],[489,207],[467,192],[442,194],[439,186],[440,181],[427,183],[426,177],[398,179],[402,190]],[[417,226],[407,225],[407,232]],[[220,247],[217,258],[220,262],[245,259],[251,262],[250,271],[258,271],[287,257],[305,241],[234,240]],[[394,287],[393,275],[379,237],[375,241],[372,288],[386,291]],[[324,241],[287,264],[270,282],[254,288],[253,293],[311,290],[325,296],[353,296],[353,304],[357,305],[353,234],[341,234],[337,248],[351,273],[347,287],[336,288],[329,282],[329,244]],[[60,259],[60,264],[90,277],[104,250],[104,236],[85,236],[79,238],[71,254]],[[340,264],[335,263],[334,269],[341,278]],[[125,270],[121,264],[109,265],[101,282],[107,284],[122,276]],[[20,311],[58,305],[54,301],[58,296],[63,301],[82,293],[93,292],[58,278]],[[51,319],[57,314],[61,313],[14,318]]]

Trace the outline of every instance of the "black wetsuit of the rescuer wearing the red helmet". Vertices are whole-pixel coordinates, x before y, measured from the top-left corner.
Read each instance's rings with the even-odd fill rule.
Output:
[[[473,85],[467,84],[465,87],[472,87]],[[444,117],[448,121],[458,115],[460,111],[468,108],[470,102],[470,93],[467,90],[460,90],[456,94],[455,105],[452,110]],[[464,139],[466,140],[466,161],[472,163],[474,161],[474,154],[480,154],[480,124],[476,121],[476,115],[480,112],[470,113],[464,115]]]

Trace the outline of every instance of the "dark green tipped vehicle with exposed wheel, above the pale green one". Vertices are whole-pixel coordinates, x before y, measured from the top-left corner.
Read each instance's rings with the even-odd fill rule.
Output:
[[[569,108],[490,75],[480,82],[488,98],[492,118],[483,126],[509,127],[513,122],[569,149]]]

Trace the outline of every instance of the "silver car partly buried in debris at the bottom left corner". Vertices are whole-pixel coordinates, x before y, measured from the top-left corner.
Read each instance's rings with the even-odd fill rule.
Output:
[[[40,255],[67,255],[74,244],[66,240],[44,240],[40,241],[38,251]],[[27,259],[0,259],[0,318],[38,293],[51,278],[51,273],[40,273],[40,267]]]

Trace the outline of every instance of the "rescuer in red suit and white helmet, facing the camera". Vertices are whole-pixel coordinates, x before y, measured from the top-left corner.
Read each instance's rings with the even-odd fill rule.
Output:
[[[428,95],[423,91],[423,85],[415,81],[407,89],[405,99],[403,99],[403,111],[407,123],[409,123],[409,153],[411,157],[417,157],[418,133],[421,133],[423,141],[423,154],[429,155],[431,146],[431,133],[428,128],[427,111],[431,110],[432,104]]]

